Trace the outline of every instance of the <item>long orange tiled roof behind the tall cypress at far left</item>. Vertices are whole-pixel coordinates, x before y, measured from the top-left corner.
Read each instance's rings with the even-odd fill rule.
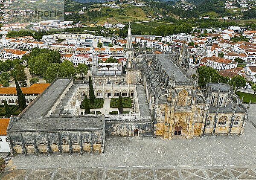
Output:
[[[30,87],[21,87],[24,94],[40,94],[50,84],[32,84]],[[16,87],[0,87],[0,94],[16,94]]]

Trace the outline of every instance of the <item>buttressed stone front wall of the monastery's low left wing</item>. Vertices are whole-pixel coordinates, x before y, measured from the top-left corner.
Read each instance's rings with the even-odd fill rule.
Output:
[[[105,149],[105,131],[44,132],[9,134],[12,154],[99,152]]]

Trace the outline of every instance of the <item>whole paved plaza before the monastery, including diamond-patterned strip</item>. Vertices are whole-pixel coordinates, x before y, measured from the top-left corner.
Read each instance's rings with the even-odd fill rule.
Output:
[[[256,104],[249,119],[256,124]],[[104,154],[17,155],[2,179],[256,179],[256,128],[243,136],[107,138]]]

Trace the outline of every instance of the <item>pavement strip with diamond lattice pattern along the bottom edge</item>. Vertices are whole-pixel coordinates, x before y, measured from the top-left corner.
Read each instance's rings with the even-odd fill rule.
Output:
[[[87,169],[11,170],[2,180],[218,180],[256,179],[256,165],[215,167],[112,167]]]

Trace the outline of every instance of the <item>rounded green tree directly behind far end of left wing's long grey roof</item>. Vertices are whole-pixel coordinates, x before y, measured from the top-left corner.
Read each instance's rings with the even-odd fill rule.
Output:
[[[76,69],[72,62],[64,60],[59,69],[59,76],[63,78],[71,78],[76,79]]]

